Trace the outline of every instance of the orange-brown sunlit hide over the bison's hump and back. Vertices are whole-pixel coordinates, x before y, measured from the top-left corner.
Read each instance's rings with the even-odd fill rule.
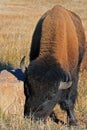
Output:
[[[76,16],[61,6],[55,6],[44,17],[39,58],[45,55],[52,55],[64,70],[72,70],[70,72],[73,73],[78,66],[79,60],[78,41],[84,39],[83,35],[82,37],[80,37],[80,34],[77,36],[80,28],[76,28],[76,22],[80,20],[76,18],[76,22],[73,23]],[[80,24],[81,22],[79,22]],[[81,43],[83,44],[83,42],[80,42],[79,45],[83,46]]]

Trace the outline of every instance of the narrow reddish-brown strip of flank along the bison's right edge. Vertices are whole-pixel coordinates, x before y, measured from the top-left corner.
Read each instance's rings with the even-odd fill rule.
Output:
[[[82,61],[84,51],[86,51],[86,37],[85,32],[82,26],[82,22],[79,16],[75,13],[70,12],[71,18],[76,28],[77,37],[78,37],[78,44],[79,44],[79,64]]]

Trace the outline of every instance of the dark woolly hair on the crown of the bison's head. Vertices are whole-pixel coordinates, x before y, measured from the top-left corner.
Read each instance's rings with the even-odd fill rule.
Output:
[[[65,72],[56,59],[53,57],[45,57],[40,60],[33,60],[28,68],[29,81],[40,82],[44,86],[46,84],[53,85],[60,81],[66,81],[68,73]],[[34,79],[34,81],[32,81]]]

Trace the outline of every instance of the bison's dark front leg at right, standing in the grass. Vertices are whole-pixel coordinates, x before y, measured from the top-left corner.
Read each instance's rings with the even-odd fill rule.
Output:
[[[78,83],[78,73],[73,78],[73,83],[68,93],[68,98],[60,102],[60,106],[63,110],[67,112],[67,122],[69,125],[77,125],[77,120],[74,115],[74,104],[77,98],[77,83]]]

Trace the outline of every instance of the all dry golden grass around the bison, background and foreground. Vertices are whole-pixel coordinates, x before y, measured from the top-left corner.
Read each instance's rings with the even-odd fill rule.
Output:
[[[0,1],[0,69],[16,68],[21,58],[26,56],[29,63],[31,38],[37,21],[41,15],[60,4],[80,15],[87,38],[87,0],[1,0]],[[79,94],[75,107],[79,128],[87,129],[87,71],[80,73]],[[65,119],[65,113],[59,108],[58,115]],[[57,111],[56,110],[56,111]],[[2,114],[1,114],[2,115]],[[38,125],[39,124],[39,125]],[[52,122],[33,123],[18,116],[0,118],[1,130],[68,130],[65,126],[57,126]]]

